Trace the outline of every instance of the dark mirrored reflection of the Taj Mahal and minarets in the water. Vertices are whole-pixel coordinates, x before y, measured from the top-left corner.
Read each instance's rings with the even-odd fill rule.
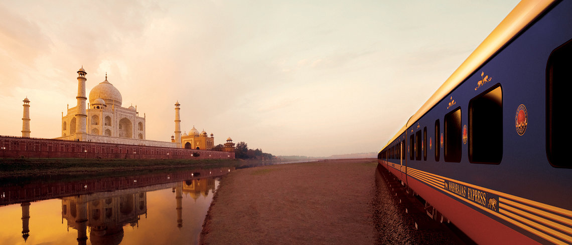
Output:
[[[203,178],[173,183],[175,192],[177,227],[182,228],[182,198],[190,196],[195,201],[210,193],[215,193],[215,179]],[[135,191],[125,193],[125,191]],[[87,244],[88,233],[91,244],[120,244],[123,240],[123,227],[138,227],[142,215],[147,215],[147,192],[125,190],[100,192],[91,195],[69,196],[62,200],[62,223],[67,222],[68,230],[77,230],[78,244]],[[22,203],[22,233],[27,238],[30,204]]]

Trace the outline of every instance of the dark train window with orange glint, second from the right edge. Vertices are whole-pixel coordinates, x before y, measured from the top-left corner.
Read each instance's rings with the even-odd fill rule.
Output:
[[[502,88],[495,85],[468,102],[468,160],[501,163]]]

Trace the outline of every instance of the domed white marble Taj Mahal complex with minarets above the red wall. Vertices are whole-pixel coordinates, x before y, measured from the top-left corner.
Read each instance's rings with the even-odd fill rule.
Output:
[[[89,101],[86,97],[85,86],[88,73],[84,67],[81,67],[77,74],[77,105],[72,108],[68,106],[65,115],[62,112],[62,134],[55,139],[192,148],[196,150],[210,150],[215,146],[214,134],[208,135],[204,130],[199,133],[194,126],[189,130],[189,134],[186,132],[181,134],[180,104],[178,101],[174,105],[175,130],[170,142],[145,139],[145,114],[141,117],[137,107],[133,107],[133,105],[122,106],[121,93],[108,81],[107,74],[105,80],[89,92]],[[25,118],[22,119],[22,136],[27,137],[30,136],[29,115],[26,118],[26,109],[29,111],[29,103],[29,99],[26,98],[24,100]],[[230,137],[224,146],[223,151],[234,150],[234,143]]]

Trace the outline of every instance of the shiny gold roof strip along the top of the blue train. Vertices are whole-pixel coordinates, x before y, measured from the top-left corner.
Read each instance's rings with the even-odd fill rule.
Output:
[[[405,126],[401,128],[383,147],[393,142],[407,127],[415,123],[427,111],[431,110],[436,103],[439,103],[447,94],[451,93],[460,83],[469,77],[476,69],[487,62],[496,52],[501,50],[507,43],[516,37],[526,26],[534,21],[550,5],[557,0],[522,0],[518,3],[509,15],[499,23],[498,26],[488,34],[475,51],[457,68],[453,74],[435,91],[433,95],[419,108],[419,110],[409,118]]]

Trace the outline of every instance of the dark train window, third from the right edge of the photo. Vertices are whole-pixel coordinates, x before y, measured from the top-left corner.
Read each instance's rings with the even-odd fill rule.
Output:
[[[444,121],[444,155],[445,162],[461,161],[461,108],[445,115]]]

